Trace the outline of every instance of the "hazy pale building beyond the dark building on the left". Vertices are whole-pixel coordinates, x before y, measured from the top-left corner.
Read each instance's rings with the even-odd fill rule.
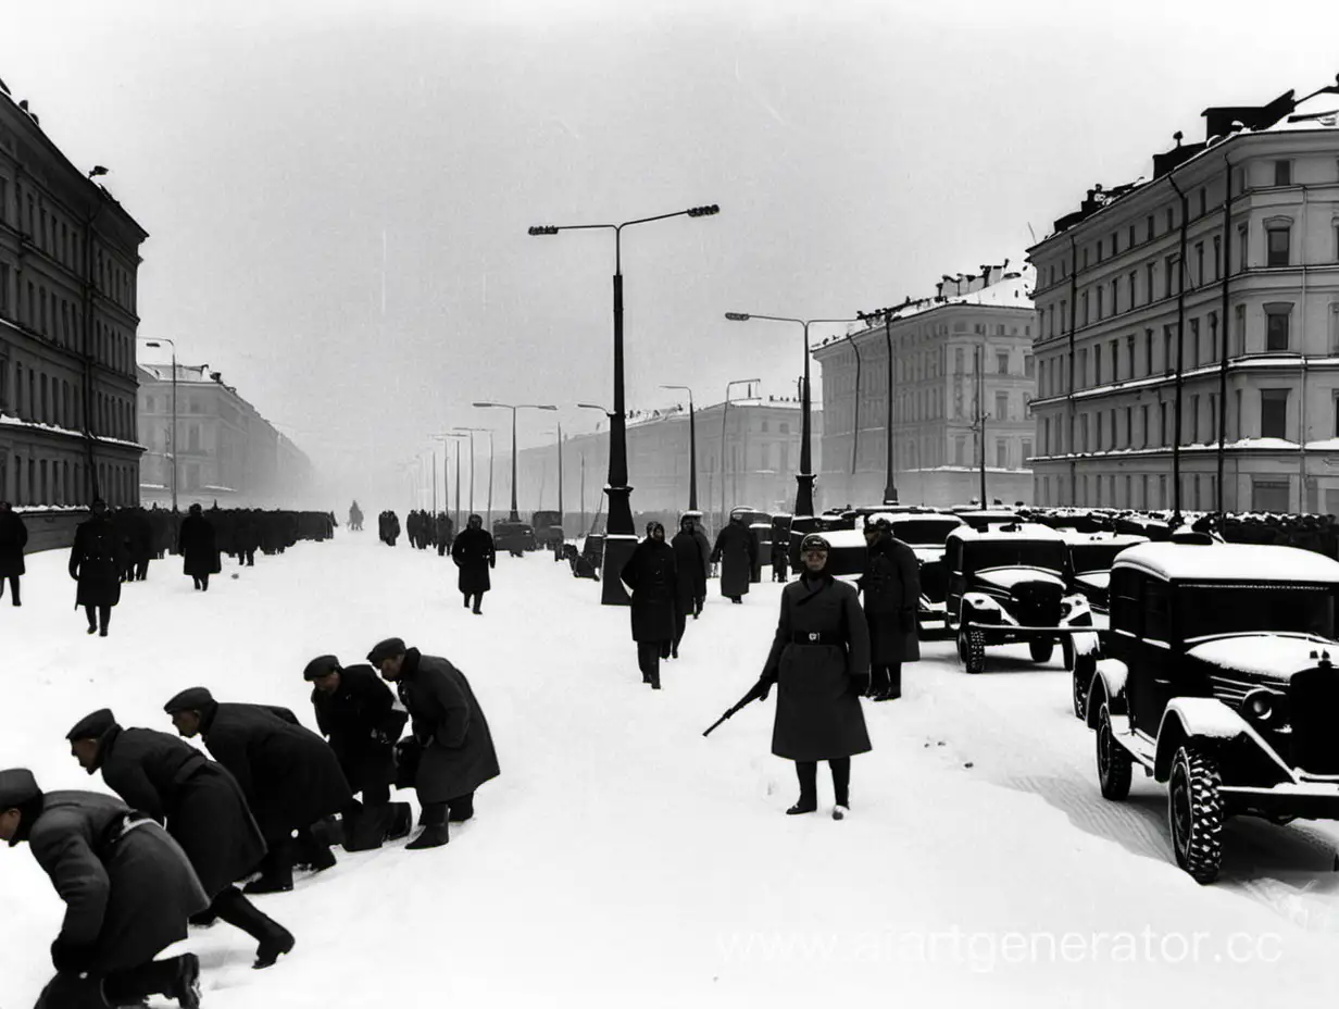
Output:
[[[311,482],[311,461],[208,364],[178,364],[177,500],[229,507],[292,507]],[[173,366],[141,364],[138,421],[145,442],[139,493],[171,504]]]

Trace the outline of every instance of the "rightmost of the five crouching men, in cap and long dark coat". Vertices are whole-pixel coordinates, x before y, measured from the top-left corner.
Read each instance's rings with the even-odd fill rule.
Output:
[[[406,847],[441,847],[450,839],[447,821],[463,823],[474,816],[475,789],[501,773],[487,718],[470,681],[443,658],[407,649],[400,638],[387,638],[367,654],[367,661],[383,679],[395,683],[412,720],[414,741],[406,752],[416,754],[410,760],[418,761],[414,788],[423,805],[423,831]]]

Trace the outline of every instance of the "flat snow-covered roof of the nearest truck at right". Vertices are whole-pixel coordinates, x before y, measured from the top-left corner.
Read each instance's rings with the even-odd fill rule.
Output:
[[[1123,551],[1113,567],[1176,580],[1339,584],[1339,561],[1297,547],[1257,543],[1144,543]]]

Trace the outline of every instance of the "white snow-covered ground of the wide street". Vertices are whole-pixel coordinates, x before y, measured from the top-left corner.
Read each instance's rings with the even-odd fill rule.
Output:
[[[652,693],[627,611],[549,555],[499,557],[482,618],[449,560],[375,532],[258,557],[237,580],[229,565],[208,595],[169,559],[126,586],[106,639],[84,635],[64,564],[29,557],[23,608],[0,603],[0,766],[47,788],[102,788],[64,742],[95,708],[170,732],[162,703],[205,685],[313,725],[305,662],[362,661],[392,634],[463,669],[493,726],[502,777],[446,848],[339,851],[261,898],[297,935],[276,967],[252,971],[253,942],[228,926],[194,931],[209,1009],[1181,1008],[1332,990],[1339,832],[1233,823],[1224,880],[1193,883],[1161,788],[1098,796],[1058,659],[992,650],[967,677],[952,642],[925,642],[905,698],[866,705],[874,752],[834,823],[783,816],[795,784],[769,754],[771,701],[702,737],[757,678],[779,586],[744,606],[712,586]],[[819,788],[830,804],[826,769]],[[0,851],[0,1009],[27,1009],[62,904],[25,847]]]

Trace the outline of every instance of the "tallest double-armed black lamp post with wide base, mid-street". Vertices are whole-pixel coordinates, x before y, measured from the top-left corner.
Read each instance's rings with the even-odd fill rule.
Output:
[[[568,230],[613,232],[613,413],[609,423],[609,482],[604,492],[609,496],[609,520],[605,525],[604,571],[600,602],[605,606],[628,606],[628,594],[619,578],[623,565],[637,544],[632,525],[632,488],[628,486],[628,430],[623,395],[623,229],[635,224],[664,221],[671,217],[710,217],[720,213],[716,204],[690,206],[687,210],[639,217],[623,224],[540,225],[530,234],[557,234]],[[611,572],[613,578],[611,578]]]

